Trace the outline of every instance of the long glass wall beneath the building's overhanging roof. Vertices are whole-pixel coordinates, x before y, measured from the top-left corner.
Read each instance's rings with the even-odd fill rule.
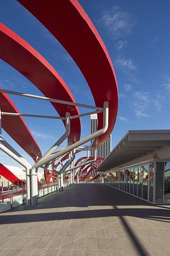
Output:
[[[113,187],[149,202],[170,204],[170,161],[155,161],[110,173]]]

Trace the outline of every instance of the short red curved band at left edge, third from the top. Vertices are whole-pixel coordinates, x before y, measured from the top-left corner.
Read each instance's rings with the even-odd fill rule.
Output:
[[[0,107],[4,112],[19,113],[6,93],[0,93]],[[41,157],[41,151],[22,116],[2,116],[2,127],[34,161],[36,156]]]

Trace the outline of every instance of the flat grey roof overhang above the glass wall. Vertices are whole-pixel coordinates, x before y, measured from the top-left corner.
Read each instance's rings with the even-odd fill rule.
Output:
[[[107,172],[163,146],[170,145],[170,130],[129,131],[97,169]]]

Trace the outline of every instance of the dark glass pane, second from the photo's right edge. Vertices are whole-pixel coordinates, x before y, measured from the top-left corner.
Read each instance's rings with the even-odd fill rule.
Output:
[[[164,162],[156,163],[155,173],[155,202],[163,203],[163,189],[164,189]]]

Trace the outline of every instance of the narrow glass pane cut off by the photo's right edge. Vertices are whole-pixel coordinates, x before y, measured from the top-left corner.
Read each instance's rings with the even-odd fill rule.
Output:
[[[170,162],[165,162],[164,173],[164,203],[170,203]]]

